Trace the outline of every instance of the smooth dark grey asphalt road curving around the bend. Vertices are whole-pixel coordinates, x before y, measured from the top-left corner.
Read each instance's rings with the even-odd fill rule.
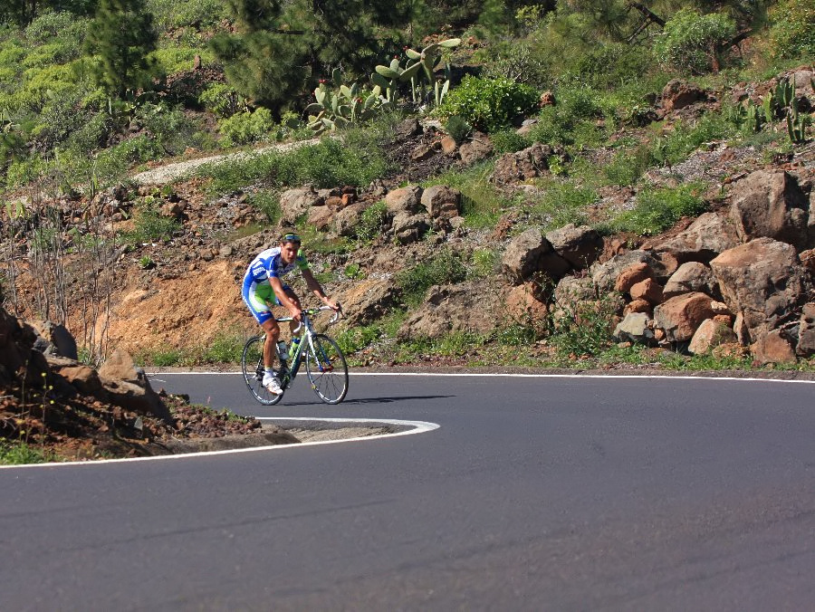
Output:
[[[815,607],[811,384],[351,376],[260,408],[417,435],[0,470],[0,610]]]

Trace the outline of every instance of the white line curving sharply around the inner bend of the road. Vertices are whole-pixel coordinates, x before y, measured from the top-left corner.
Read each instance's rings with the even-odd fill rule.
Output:
[[[394,418],[322,418],[322,417],[308,417],[308,416],[263,416],[256,417],[259,421],[311,421],[317,422],[331,422],[331,423],[367,423],[371,426],[376,425],[393,425],[411,427],[405,431],[394,432],[392,434],[380,435],[359,435],[350,438],[340,438],[339,440],[320,440],[317,442],[301,442],[300,444],[293,445],[268,445],[268,446],[253,446],[251,448],[235,448],[224,451],[204,451],[201,453],[182,453],[182,454],[160,454],[155,457],[130,457],[127,459],[99,459],[94,461],[67,461],[64,463],[52,464],[24,464],[24,465],[0,465],[0,470],[11,470],[16,468],[36,468],[36,467],[62,467],[65,465],[100,465],[100,464],[124,464],[134,461],[168,461],[171,459],[190,459],[194,457],[209,457],[217,454],[237,454],[237,453],[255,453],[257,451],[282,451],[291,448],[302,448],[303,446],[316,446],[316,445],[336,445],[341,442],[364,442],[368,440],[379,440],[380,438],[395,437],[397,435],[412,435],[412,434],[425,434],[427,432],[438,429],[437,423],[430,423],[428,421],[404,421]]]

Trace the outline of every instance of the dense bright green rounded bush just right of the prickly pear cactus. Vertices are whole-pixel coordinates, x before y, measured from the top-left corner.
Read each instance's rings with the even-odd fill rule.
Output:
[[[535,109],[538,92],[529,85],[508,79],[466,76],[447,94],[439,108],[443,117],[458,115],[475,129],[495,131]]]

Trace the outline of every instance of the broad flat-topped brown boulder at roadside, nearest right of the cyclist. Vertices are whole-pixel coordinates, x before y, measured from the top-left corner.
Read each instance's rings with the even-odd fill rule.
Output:
[[[484,301],[480,282],[434,285],[425,303],[413,311],[399,328],[398,337],[438,338],[453,331],[488,334],[496,327],[495,301]]]

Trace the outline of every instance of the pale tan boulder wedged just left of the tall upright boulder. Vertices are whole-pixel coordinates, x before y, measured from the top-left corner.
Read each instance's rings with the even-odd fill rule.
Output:
[[[666,253],[679,264],[707,263],[717,254],[732,249],[739,242],[732,221],[715,213],[704,213],[688,225],[685,231],[673,238],[648,242],[643,246],[652,249],[660,257],[664,256],[662,253]]]

